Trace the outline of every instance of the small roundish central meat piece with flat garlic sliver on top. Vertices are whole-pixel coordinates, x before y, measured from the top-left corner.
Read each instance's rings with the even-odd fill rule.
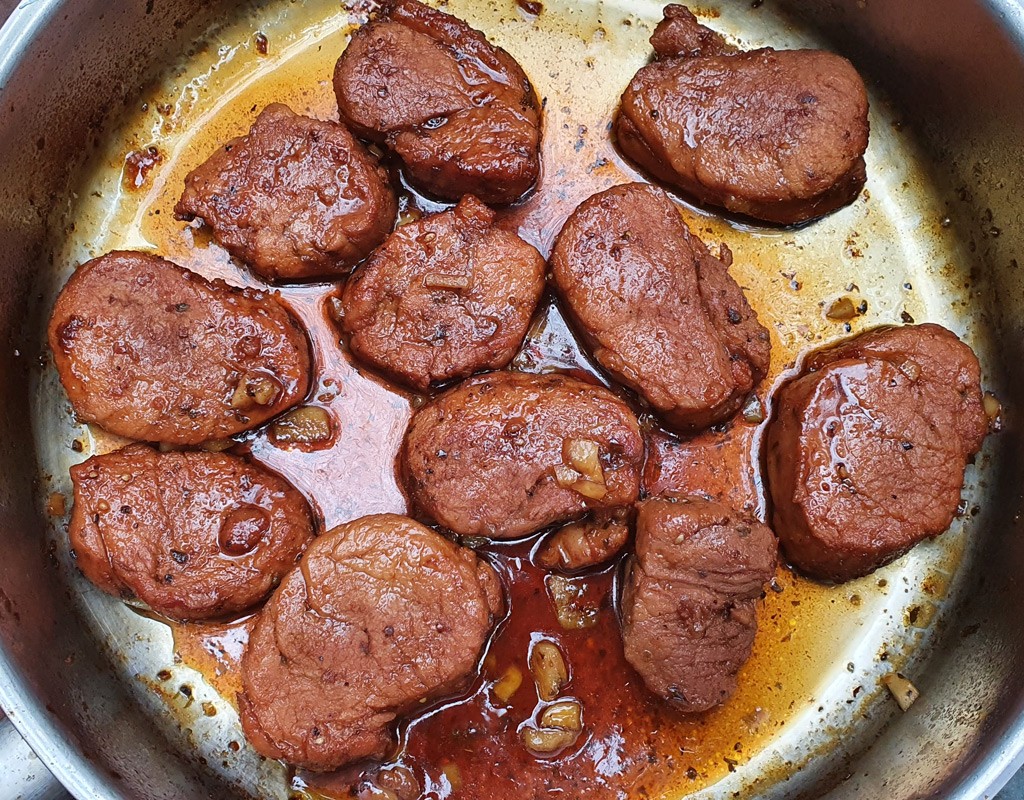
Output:
[[[544,258],[466,197],[402,225],[352,276],[352,352],[415,389],[507,365],[544,291]]]

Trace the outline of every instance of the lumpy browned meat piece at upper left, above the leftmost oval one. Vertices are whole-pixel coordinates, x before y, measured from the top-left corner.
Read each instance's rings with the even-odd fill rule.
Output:
[[[387,172],[344,125],[273,103],[188,173],[174,211],[276,281],[345,271],[384,241],[397,208]]]

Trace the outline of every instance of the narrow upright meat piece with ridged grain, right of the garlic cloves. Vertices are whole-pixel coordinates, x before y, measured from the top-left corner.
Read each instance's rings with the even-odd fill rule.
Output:
[[[668,495],[638,506],[623,641],[651,691],[686,712],[728,700],[775,562],[772,532],[720,503]]]

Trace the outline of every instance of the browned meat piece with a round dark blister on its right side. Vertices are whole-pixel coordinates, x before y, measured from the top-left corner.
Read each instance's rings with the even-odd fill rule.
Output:
[[[237,456],[132,445],[73,466],[71,477],[79,569],[104,592],[175,620],[255,605],[313,536],[302,495]]]

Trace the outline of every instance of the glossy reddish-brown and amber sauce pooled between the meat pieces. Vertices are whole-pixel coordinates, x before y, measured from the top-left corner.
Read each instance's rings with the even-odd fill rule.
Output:
[[[458,11],[454,7],[450,10]],[[548,18],[545,12],[539,20]],[[623,30],[633,26],[629,18],[615,24],[624,26]],[[594,41],[605,40],[606,34],[600,31],[604,28],[595,27],[587,34],[589,39],[581,34],[579,53],[572,51],[577,45],[571,45],[557,69],[553,62],[545,64],[549,82],[585,86],[597,80],[602,62],[622,55],[614,47],[609,52],[593,50]],[[541,46],[546,41],[543,37],[556,33],[539,30]],[[275,42],[272,34],[267,36]],[[645,37],[642,34],[632,39],[642,41]],[[247,46],[252,48],[251,58],[269,64],[272,58],[263,55],[266,47],[252,41],[250,34]],[[630,41],[626,45],[634,47]],[[137,236],[134,240],[131,235],[120,240],[115,237],[112,245],[152,246],[208,278],[262,286],[203,229],[175,221],[173,205],[185,173],[220,142],[243,133],[266,103],[284,101],[299,113],[336,118],[330,76],[343,45],[340,35],[314,37],[304,45],[300,42],[297,51],[293,48],[292,54],[272,69],[223,71],[224,77],[213,75],[193,95],[181,93],[188,99],[179,100],[176,110],[164,115],[166,119],[156,127],[151,125],[152,115],[132,121],[126,128],[129,135],[120,161],[112,162],[110,168],[120,172],[122,185],[130,190],[119,200],[119,224]],[[270,52],[278,51],[274,44]],[[573,60],[575,54],[580,57]],[[524,64],[527,73],[531,66],[541,69]],[[627,64],[622,69],[635,66]],[[221,91],[225,88],[230,91]],[[158,104],[155,98],[153,108]],[[163,106],[166,108],[166,101]],[[525,202],[502,214],[503,224],[517,230],[545,255],[581,201],[636,178],[609,142],[611,112],[611,107],[587,106],[584,97],[578,108],[546,107],[542,180]],[[150,152],[147,130],[157,140],[167,139],[166,146],[157,142],[160,160],[153,165],[138,159],[139,153]],[[404,208],[408,216],[410,211],[432,211],[438,206],[411,193]],[[772,332],[773,377],[809,342],[842,332],[823,315],[820,323],[807,324],[804,306],[820,304],[819,298],[837,289],[839,279],[825,272],[804,272],[798,280],[791,256],[793,248],[802,246],[787,241],[785,234],[752,236],[692,210],[685,210],[685,216],[691,229],[713,248],[719,241],[728,241],[736,258],[732,272],[748,290],[752,304],[759,310],[771,309],[770,317],[763,319]],[[315,449],[282,446],[264,427],[240,437],[236,446],[237,452],[249,453],[302,491],[316,508],[325,530],[368,513],[408,510],[395,475],[395,456],[416,399],[352,364],[329,319],[328,302],[336,290],[334,284],[275,290],[309,331],[318,377],[307,404],[328,411],[333,439]],[[907,303],[919,312],[912,298]],[[550,299],[514,367],[594,373],[557,304]],[[771,380],[759,388],[761,396],[767,393]],[[758,425],[738,417],[722,429],[685,439],[652,426],[647,433],[645,491],[708,494],[737,508],[763,513],[756,466],[758,431]],[[100,434],[92,446],[95,452],[119,444]],[[740,673],[736,694],[713,712],[683,716],[651,697],[625,663],[613,591],[621,564],[573,579],[583,585],[586,602],[598,610],[593,627],[566,631],[555,618],[545,574],[529,560],[535,544],[536,539],[480,548],[505,578],[511,614],[493,638],[481,674],[468,697],[441,704],[402,725],[402,744],[395,759],[414,771],[423,798],[535,794],[646,797],[713,784],[767,747],[787,721],[815,704],[821,678],[833,666],[834,643],[851,635],[866,612],[860,608],[859,595],[849,587],[823,587],[780,570],[776,590],[768,592],[760,609],[754,655]],[[239,659],[251,624],[174,625],[176,657],[199,670],[233,703],[240,687]],[[566,692],[584,708],[584,733],[573,747],[553,759],[529,755],[517,732],[538,704],[526,663],[530,641],[537,637],[560,644],[571,671]],[[523,683],[508,704],[502,704],[490,686],[513,665],[522,671]],[[333,776],[298,774],[293,790],[300,796],[342,798],[354,793],[382,797],[372,789],[374,772],[375,767],[370,766]]]

